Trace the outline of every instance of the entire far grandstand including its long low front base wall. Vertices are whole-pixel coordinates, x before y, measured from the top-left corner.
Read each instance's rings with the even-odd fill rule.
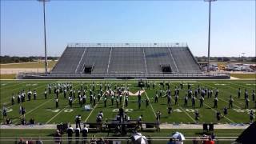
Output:
[[[230,74],[203,73],[183,43],[74,43],[50,73],[18,78],[223,79]]]

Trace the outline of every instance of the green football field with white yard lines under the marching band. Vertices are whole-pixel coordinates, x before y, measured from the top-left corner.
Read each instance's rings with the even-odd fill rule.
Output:
[[[73,90],[76,92],[80,89],[86,90],[86,104],[90,106],[90,110],[85,110],[84,106],[82,107],[79,104],[78,94],[75,94],[73,106],[70,107],[68,105],[68,94],[67,97],[63,97],[63,93],[60,93],[58,96],[59,107],[55,108],[55,94],[48,94],[47,99],[44,98],[45,89],[48,91],[48,85],[52,86],[58,84],[65,84],[66,82],[72,83]],[[92,89],[91,87],[95,86],[95,90],[93,91],[94,95],[96,95],[96,103],[90,103],[90,94],[89,91]],[[140,115],[142,115],[142,120],[144,122],[155,122],[156,121],[156,113],[159,110],[161,112],[161,123],[203,123],[203,122],[214,122],[214,123],[249,123],[250,122],[250,110],[254,111],[255,114],[255,103],[252,101],[252,91],[255,90],[256,84],[254,81],[227,81],[227,80],[184,80],[184,81],[174,81],[174,80],[166,80],[166,81],[148,81],[150,84],[150,88],[138,87],[138,81],[118,81],[118,80],[78,80],[78,81],[64,81],[64,80],[51,80],[51,81],[2,81],[1,82],[1,108],[6,106],[7,108],[7,118],[11,118],[13,123],[20,124],[20,114],[19,107],[24,106],[26,108],[26,121],[29,121],[30,118],[34,118],[35,122],[39,122],[42,124],[56,124],[60,122],[70,122],[74,123],[74,118],[76,115],[82,115],[82,122],[96,122],[96,117],[99,111],[102,110],[104,117],[103,121],[114,119],[118,114],[118,109],[120,106],[126,111],[126,113],[130,116],[130,119],[137,119]],[[153,83],[155,84],[153,88]],[[163,85],[160,85],[163,83]],[[172,112],[168,114],[168,104],[166,97],[166,83],[169,83],[171,90],[171,107]],[[181,90],[180,83],[183,84],[183,89]],[[107,97],[106,107],[104,106],[103,97],[101,97],[98,101],[97,95],[100,91],[100,85],[102,84],[103,93],[108,93],[106,90],[106,86],[110,86],[111,90],[115,90],[115,87],[123,87],[125,90],[130,91],[130,96],[128,97],[128,106],[125,106],[125,97],[122,96],[122,102],[118,102],[118,106],[116,105],[116,101],[114,100],[114,105],[111,105],[111,98]],[[184,98],[188,91],[188,85],[190,85],[190,89],[193,91],[200,88],[213,90],[212,98],[207,98],[207,94],[205,100],[203,102],[203,106],[199,107],[199,98],[200,94],[198,94],[198,98],[195,101],[195,107],[192,107],[191,99],[188,100],[188,105],[184,106]],[[175,87],[179,87],[179,97],[178,104],[174,104],[174,89]],[[214,94],[218,88],[218,108],[214,108]],[[241,88],[241,97],[238,98],[238,88]],[[25,90],[26,94],[28,90],[31,90],[32,93],[36,90],[38,96],[37,99],[33,99],[33,94],[31,101],[26,101],[18,104],[17,96],[18,92]],[[52,87],[52,91],[54,90],[54,86]],[[162,90],[162,97],[158,97],[158,102],[154,102],[155,94],[160,93]],[[249,108],[245,109],[245,99],[244,93],[245,90],[248,90],[249,94]],[[142,106],[138,108],[138,92],[142,94]],[[15,96],[14,105],[11,105],[11,98]],[[228,109],[228,114],[223,114],[224,106],[229,106],[230,95],[233,96],[233,108]],[[149,106],[146,107],[146,98],[150,100]],[[196,121],[194,117],[194,111],[199,111],[199,120]],[[220,111],[223,115],[220,121],[216,118],[217,111]],[[1,122],[3,122],[3,117],[1,116]]]

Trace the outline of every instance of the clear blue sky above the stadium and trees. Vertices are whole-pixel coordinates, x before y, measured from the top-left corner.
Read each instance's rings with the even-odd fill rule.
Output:
[[[70,42],[186,42],[206,56],[209,3],[198,1],[61,1],[46,3],[47,54]],[[43,56],[42,2],[1,0],[1,55]],[[210,55],[255,56],[255,1],[211,5]]]

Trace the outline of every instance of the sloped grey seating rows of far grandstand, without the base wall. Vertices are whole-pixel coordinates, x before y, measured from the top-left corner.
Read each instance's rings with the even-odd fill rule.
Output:
[[[163,74],[161,66],[170,66],[171,74],[201,73],[188,46],[96,45],[67,46],[51,74]]]

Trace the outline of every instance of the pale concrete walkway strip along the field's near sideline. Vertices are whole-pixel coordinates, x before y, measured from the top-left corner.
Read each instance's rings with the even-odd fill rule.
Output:
[[[249,124],[215,124],[214,129],[246,129]],[[72,127],[75,127],[75,124],[72,124]],[[54,124],[47,125],[0,125],[0,129],[28,129],[28,130],[47,130],[47,129],[56,129],[57,126]],[[160,129],[201,129],[202,124],[167,124],[162,123]]]

